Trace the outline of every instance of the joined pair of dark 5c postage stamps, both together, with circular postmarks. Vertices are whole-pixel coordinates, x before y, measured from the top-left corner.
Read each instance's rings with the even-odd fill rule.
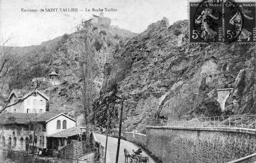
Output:
[[[255,0],[190,0],[190,43],[256,42]]]

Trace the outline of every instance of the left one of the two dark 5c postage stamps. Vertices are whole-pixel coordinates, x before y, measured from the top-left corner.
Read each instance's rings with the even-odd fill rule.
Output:
[[[191,43],[223,42],[223,3],[189,2],[189,41]]]

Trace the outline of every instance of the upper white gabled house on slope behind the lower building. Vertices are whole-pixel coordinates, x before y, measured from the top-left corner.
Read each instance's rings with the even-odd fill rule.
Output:
[[[17,90],[14,89],[10,93],[5,112],[9,113],[44,113],[46,111],[46,103],[49,97],[39,90]]]

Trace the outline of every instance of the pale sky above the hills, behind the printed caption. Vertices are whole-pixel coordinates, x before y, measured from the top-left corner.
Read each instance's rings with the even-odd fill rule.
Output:
[[[22,8],[37,12],[23,12]],[[46,8],[58,11],[45,12]],[[60,8],[77,8],[77,12],[62,12]],[[169,19],[170,25],[188,19],[187,0],[0,0],[0,43],[11,37],[6,46],[39,45],[65,33],[71,34],[82,19],[100,14],[92,11],[93,8],[103,9],[111,25],[134,33],[143,32],[163,17]],[[106,12],[104,8],[117,11]]]

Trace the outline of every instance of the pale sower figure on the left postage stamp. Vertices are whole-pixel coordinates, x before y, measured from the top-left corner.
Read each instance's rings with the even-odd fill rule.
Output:
[[[200,24],[202,23],[201,30],[202,33],[200,35],[201,38],[204,38],[204,41],[208,41],[213,38],[213,41],[215,41],[215,35],[217,35],[217,32],[214,32],[209,28],[209,24],[207,23],[207,16],[212,17],[213,19],[218,19],[215,16],[212,15],[212,9],[209,8],[209,4],[206,3],[204,5],[204,10],[202,11],[201,15],[196,19],[196,23]],[[209,18],[208,18],[209,19]]]

